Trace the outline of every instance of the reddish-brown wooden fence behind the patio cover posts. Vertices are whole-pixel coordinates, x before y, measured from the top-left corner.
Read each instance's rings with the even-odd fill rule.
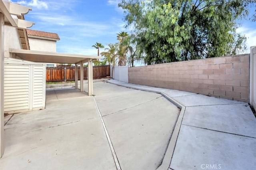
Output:
[[[110,65],[93,67],[93,79],[107,76],[110,76]],[[75,80],[74,66],[46,67],[46,82],[61,82],[65,80]],[[80,80],[80,66],[78,66],[78,80]],[[87,68],[84,68],[84,80],[87,80]]]

